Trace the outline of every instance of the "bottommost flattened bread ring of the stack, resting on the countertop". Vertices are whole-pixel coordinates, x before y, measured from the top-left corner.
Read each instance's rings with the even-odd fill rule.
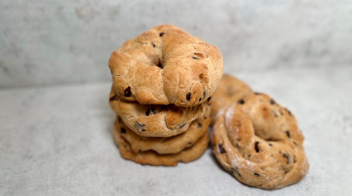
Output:
[[[158,154],[154,151],[135,153],[131,150],[130,144],[121,136],[121,127],[118,121],[114,124],[113,137],[123,158],[143,165],[176,166],[178,162],[188,163],[200,158],[209,145],[209,134],[206,131],[205,135],[193,146],[176,154]]]

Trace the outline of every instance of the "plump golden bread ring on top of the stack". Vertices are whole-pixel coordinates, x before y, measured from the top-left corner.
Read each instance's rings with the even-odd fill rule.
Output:
[[[172,25],[153,27],[127,41],[109,60],[121,98],[182,107],[210,97],[223,66],[218,48]]]

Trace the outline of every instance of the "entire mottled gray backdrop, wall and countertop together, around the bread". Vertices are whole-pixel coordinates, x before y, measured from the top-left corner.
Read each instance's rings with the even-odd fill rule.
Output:
[[[111,52],[162,23],[218,46],[225,73],[297,117],[309,171],[274,191],[210,149],[176,167],[121,158]],[[351,195],[350,0],[0,1],[0,195]]]

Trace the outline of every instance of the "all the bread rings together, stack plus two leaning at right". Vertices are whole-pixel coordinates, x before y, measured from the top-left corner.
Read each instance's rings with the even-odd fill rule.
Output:
[[[114,51],[109,68],[113,137],[123,158],[164,166],[193,161],[207,149],[211,125],[216,159],[241,183],[278,189],[306,175],[295,116],[222,75],[216,47],[161,25]]]

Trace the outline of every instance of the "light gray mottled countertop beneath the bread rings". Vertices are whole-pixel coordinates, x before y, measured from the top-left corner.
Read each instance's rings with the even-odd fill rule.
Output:
[[[296,115],[310,164],[301,182],[248,187],[210,149],[176,167],[122,159],[106,82],[0,90],[0,195],[350,195],[352,66],[233,74]]]

